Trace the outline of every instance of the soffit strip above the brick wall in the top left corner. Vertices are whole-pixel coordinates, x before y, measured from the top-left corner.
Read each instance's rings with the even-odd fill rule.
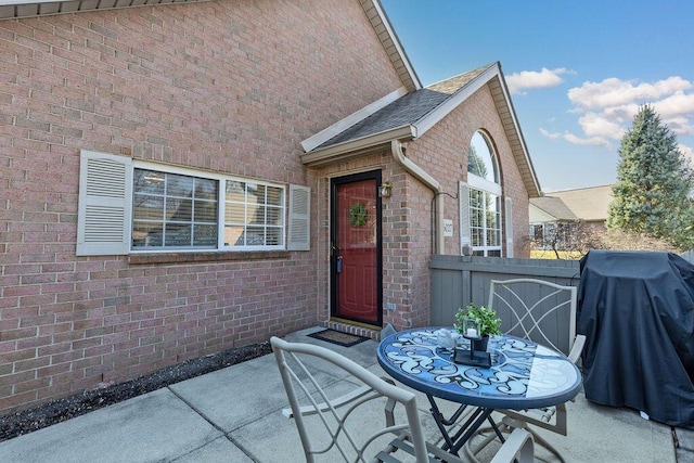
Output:
[[[0,0],[0,20],[203,1],[211,0]]]

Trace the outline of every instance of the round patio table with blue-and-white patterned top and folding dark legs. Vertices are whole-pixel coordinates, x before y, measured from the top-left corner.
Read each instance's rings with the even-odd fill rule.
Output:
[[[445,448],[458,454],[460,448],[489,420],[496,409],[537,409],[573,399],[580,390],[581,375],[566,356],[528,339],[511,335],[490,336],[487,351],[491,366],[473,366],[453,361],[452,349],[438,346],[441,326],[417,327],[384,338],[377,359],[385,372],[402,384],[426,394]],[[459,348],[470,349],[462,336]],[[461,403],[451,419],[440,413],[435,398]],[[446,426],[454,424],[467,406],[477,409],[455,436]]]

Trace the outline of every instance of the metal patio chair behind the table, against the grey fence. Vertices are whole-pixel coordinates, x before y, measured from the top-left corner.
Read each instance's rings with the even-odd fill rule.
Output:
[[[534,340],[563,352],[577,363],[586,336],[576,334],[577,288],[536,279],[492,280],[489,287],[488,307],[502,319],[505,333]],[[566,404],[531,410],[499,410],[503,414],[498,423],[501,429],[528,429],[536,442],[564,461],[560,452],[532,430],[532,426],[567,435]],[[497,435],[491,428],[480,429],[484,439],[471,439],[465,446],[468,456],[475,459]]]

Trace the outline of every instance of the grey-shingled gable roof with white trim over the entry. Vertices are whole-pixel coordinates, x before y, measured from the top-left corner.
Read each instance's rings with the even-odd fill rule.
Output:
[[[393,140],[422,137],[467,98],[488,85],[530,197],[540,195],[500,63],[492,63],[414,92],[394,92],[301,142],[304,164],[317,166],[381,149]]]

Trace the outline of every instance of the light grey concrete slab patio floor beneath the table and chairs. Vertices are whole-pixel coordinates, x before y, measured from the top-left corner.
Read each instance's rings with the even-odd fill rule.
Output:
[[[318,344],[349,357],[377,375],[376,342],[354,347],[292,333],[292,342]],[[344,377],[325,371],[335,387]],[[438,435],[428,402],[417,397],[427,438]],[[93,411],[0,442],[0,462],[261,462],[304,461],[274,356],[268,355]],[[378,411],[382,419],[383,411]],[[568,404],[569,435],[541,433],[568,462],[694,463],[694,432],[677,429],[638,412],[595,406],[582,394]],[[364,421],[368,422],[368,421]],[[536,448],[537,461],[555,461]],[[334,460],[325,460],[334,461]]]

